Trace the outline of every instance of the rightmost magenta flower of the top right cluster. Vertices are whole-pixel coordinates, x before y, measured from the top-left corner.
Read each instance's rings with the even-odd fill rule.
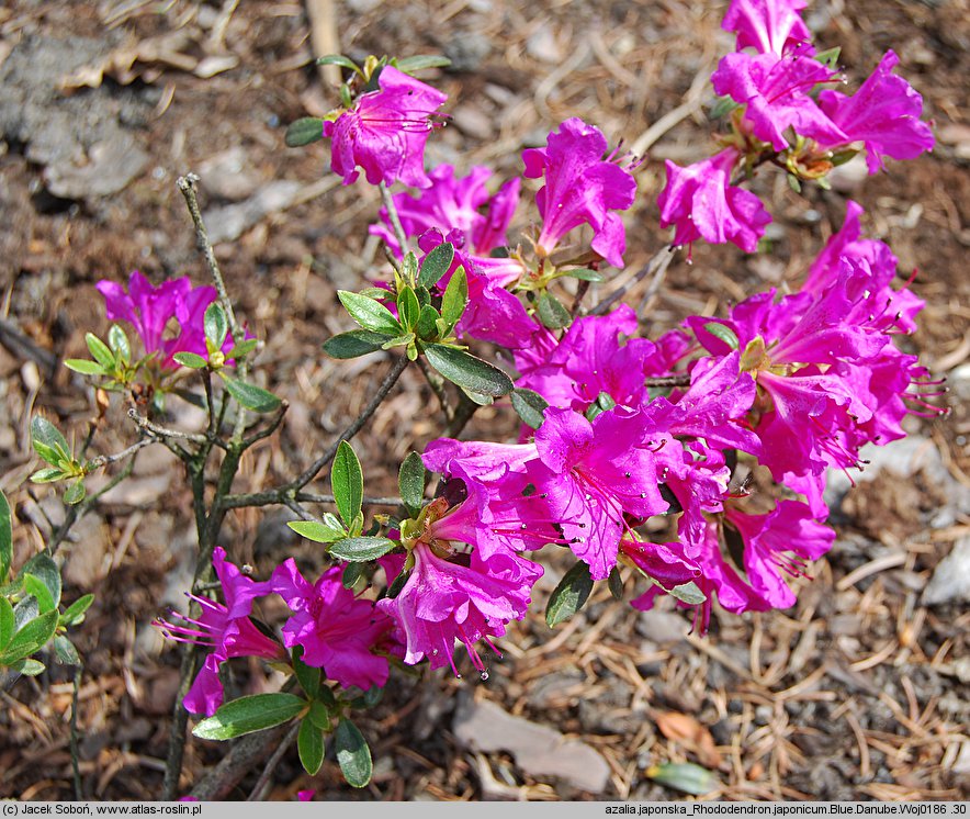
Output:
[[[899,61],[894,52],[887,52],[851,97],[833,90],[819,94],[822,111],[847,137],[841,144],[865,144],[870,173],[884,167],[883,156],[915,159],[934,145],[933,131],[920,120],[923,98],[902,77],[892,74]],[[820,143],[823,147],[834,147],[834,143],[823,139]]]

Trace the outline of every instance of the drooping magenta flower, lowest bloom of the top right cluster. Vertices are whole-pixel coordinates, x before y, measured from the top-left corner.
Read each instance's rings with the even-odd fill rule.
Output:
[[[675,247],[704,238],[715,245],[731,242],[745,253],[757,250],[771,215],[754,193],[731,184],[737,157],[735,148],[725,148],[686,168],[665,162],[667,184],[657,205],[661,227],[675,227]]]

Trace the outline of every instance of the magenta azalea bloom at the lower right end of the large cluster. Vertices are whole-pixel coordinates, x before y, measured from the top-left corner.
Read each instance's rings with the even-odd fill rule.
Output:
[[[772,608],[796,603],[782,572],[805,576],[805,561],[817,560],[835,541],[835,531],[797,501],[781,501],[767,515],[747,515],[729,506],[724,518],[744,542],[744,570],[752,588]]]

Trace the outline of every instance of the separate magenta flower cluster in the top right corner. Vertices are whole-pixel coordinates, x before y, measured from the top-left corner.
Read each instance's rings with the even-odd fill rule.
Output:
[[[923,98],[892,74],[899,57],[891,51],[855,94],[830,88],[815,93],[839,78],[819,59],[800,16],[804,4],[732,0],[722,27],[737,34],[736,51],[721,59],[711,82],[740,106],[734,133],[709,159],[686,168],[666,162],[667,184],[657,204],[661,226],[674,227],[675,246],[703,238],[754,253],[771,217],[735,177],[763,162],[816,179],[839,153],[865,148],[875,173],[883,157],[913,159],[933,147],[933,133],[920,120]]]

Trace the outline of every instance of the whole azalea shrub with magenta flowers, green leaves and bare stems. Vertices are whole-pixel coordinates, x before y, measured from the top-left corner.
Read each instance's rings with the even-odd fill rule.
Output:
[[[699,242],[764,251],[771,215],[746,187],[755,176],[785,173],[797,191],[825,187],[856,155],[878,173],[887,160],[933,147],[920,94],[893,72],[896,56],[888,52],[851,90],[837,48],[812,42],[803,5],[731,2],[723,27],[736,34],[735,51],[711,76],[718,135],[709,158],[666,162],[658,227],[673,234],[657,240],[641,278],[662,274],[677,248],[689,258]],[[320,339],[336,359],[390,354],[391,370],[375,377],[361,416],[291,481],[232,492],[241,455],[275,431],[286,406],[256,384],[259,339],[235,315],[189,177],[180,187],[214,285],[181,278],[154,287],[138,272],[126,288],[102,281],[115,324],[106,341],[89,334],[91,359],[67,361],[124,396],[138,439],[89,459],[47,422],[35,424],[48,468],[34,480],[69,481],[65,500],[78,514],[97,502],[87,475],[144,446],[166,446],[187,465],[199,571],[187,610],[157,619],[187,647],[169,796],[187,714],[198,719],[196,737],[216,740],[290,726],[268,741],[295,740],[311,774],[332,734],[347,781],[365,785],[371,758],[354,710],[375,705],[406,666],[487,678],[486,658],[500,657],[509,624],[529,610],[541,550],[573,559],[549,601],[550,626],[578,612],[597,583],[638,609],[672,596],[700,633],[714,606],[737,615],[788,608],[791,580],[808,577],[835,539],[825,523],[830,471],[862,469],[862,448],[904,437],[906,415],[940,412],[928,400],[938,382],[899,344],[923,302],[891,249],[864,235],[856,203],[796,291],[753,293],[723,315],[686,316],[648,338],[648,324],[622,302],[625,289],[610,290],[624,263],[623,212],[646,160],[572,117],[521,155],[522,178],[540,186],[534,199],[520,178],[496,183],[486,167],[428,168],[425,147],[447,124],[448,99],[415,75],[447,60],[320,61],[346,72],[340,104],[293,123],[286,142],[327,141],[343,184],[379,186],[384,202],[370,231],[386,248],[386,274],[360,292],[340,291],[358,328]],[[510,236],[525,211],[531,227]],[[593,283],[609,293],[598,304],[586,303]],[[349,441],[365,434],[406,369],[439,399],[442,434],[401,464],[398,497],[376,502],[390,512],[374,511]],[[165,426],[173,401],[205,410],[205,430]],[[460,439],[475,410],[496,401],[520,416],[518,439]],[[326,468],[330,494],[314,494],[307,486]],[[255,577],[233,559],[232,543],[217,542],[228,512],[269,504],[293,511],[300,519],[290,526],[320,545],[315,574],[287,558]],[[651,536],[663,529],[652,526],[658,516],[676,520],[675,538]],[[25,566],[0,596],[8,654],[11,640],[24,642],[30,617],[8,629],[24,606],[55,630],[77,621],[56,614],[48,597],[59,595],[45,597],[44,569]],[[268,596],[285,603],[285,619],[255,618],[255,603]],[[32,652],[41,648],[34,642]],[[26,654],[8,654],[0,664],[26,673]],[[289,682],[227,699],[221,666],[244,657],[285,671]]]

